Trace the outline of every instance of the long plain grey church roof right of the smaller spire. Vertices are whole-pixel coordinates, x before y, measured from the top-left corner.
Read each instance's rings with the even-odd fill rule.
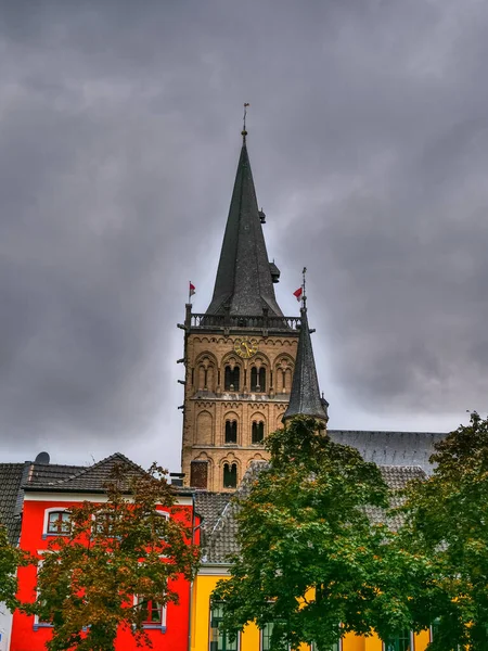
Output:
[[[431,474],[428,459],[434,444],[447,436],[439,432],[367,432],[328,430],[332,441],[350,445],[359,450],[365,461],[378,465],[420,465]]]

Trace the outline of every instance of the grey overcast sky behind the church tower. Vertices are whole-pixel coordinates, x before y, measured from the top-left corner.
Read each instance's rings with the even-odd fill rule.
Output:
[[[277,297],[309,269],[333,429],[488,395],[488,3],[0,3],[0,461],[179,470],[249,102]]]

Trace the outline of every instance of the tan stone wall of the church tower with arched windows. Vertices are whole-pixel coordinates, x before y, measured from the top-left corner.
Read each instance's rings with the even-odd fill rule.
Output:
[[[235,352],[244,337],[253,340],[257,348],[247,359]],[[297,341],[296,330],[265,336],[262,332],[247,329],[228,334],[187,329],[182,445],[187,485],[231,490],[223,484],[226,464],[228,468],[236,465],[239,485],[251,461],[267,458],[262,444],[252,443],[253,422],[264,423],[265,436],[282,426]],[[226,390],[226,366],[239,367],[239,391]],[[265,391],[252,391],[253,367],[266,370]],[[236,443],[226,443],[226,421],[236,422]]]

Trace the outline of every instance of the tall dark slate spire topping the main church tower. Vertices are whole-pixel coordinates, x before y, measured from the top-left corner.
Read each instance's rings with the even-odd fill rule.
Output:
[[[214,296],[206,314],[223,314],[228,306],[234,316],[261,316],[266,308],[270,315],[282,316],[273,288],[280,272],[268,260],[261,227],[264,214],[258,208],[245,133]]]

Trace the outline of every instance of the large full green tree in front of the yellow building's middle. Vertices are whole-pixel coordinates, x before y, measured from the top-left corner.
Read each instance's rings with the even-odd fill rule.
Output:
[[[267,448],[269,465],[235,507],[231,577],[214,593],[223,627],[272,623],[273,650],[311,641],[325,650],[347,631],[415,627],[409,599],[427,566],[372,523],[389,503],[378,468],[306,417],[271,434]]]

